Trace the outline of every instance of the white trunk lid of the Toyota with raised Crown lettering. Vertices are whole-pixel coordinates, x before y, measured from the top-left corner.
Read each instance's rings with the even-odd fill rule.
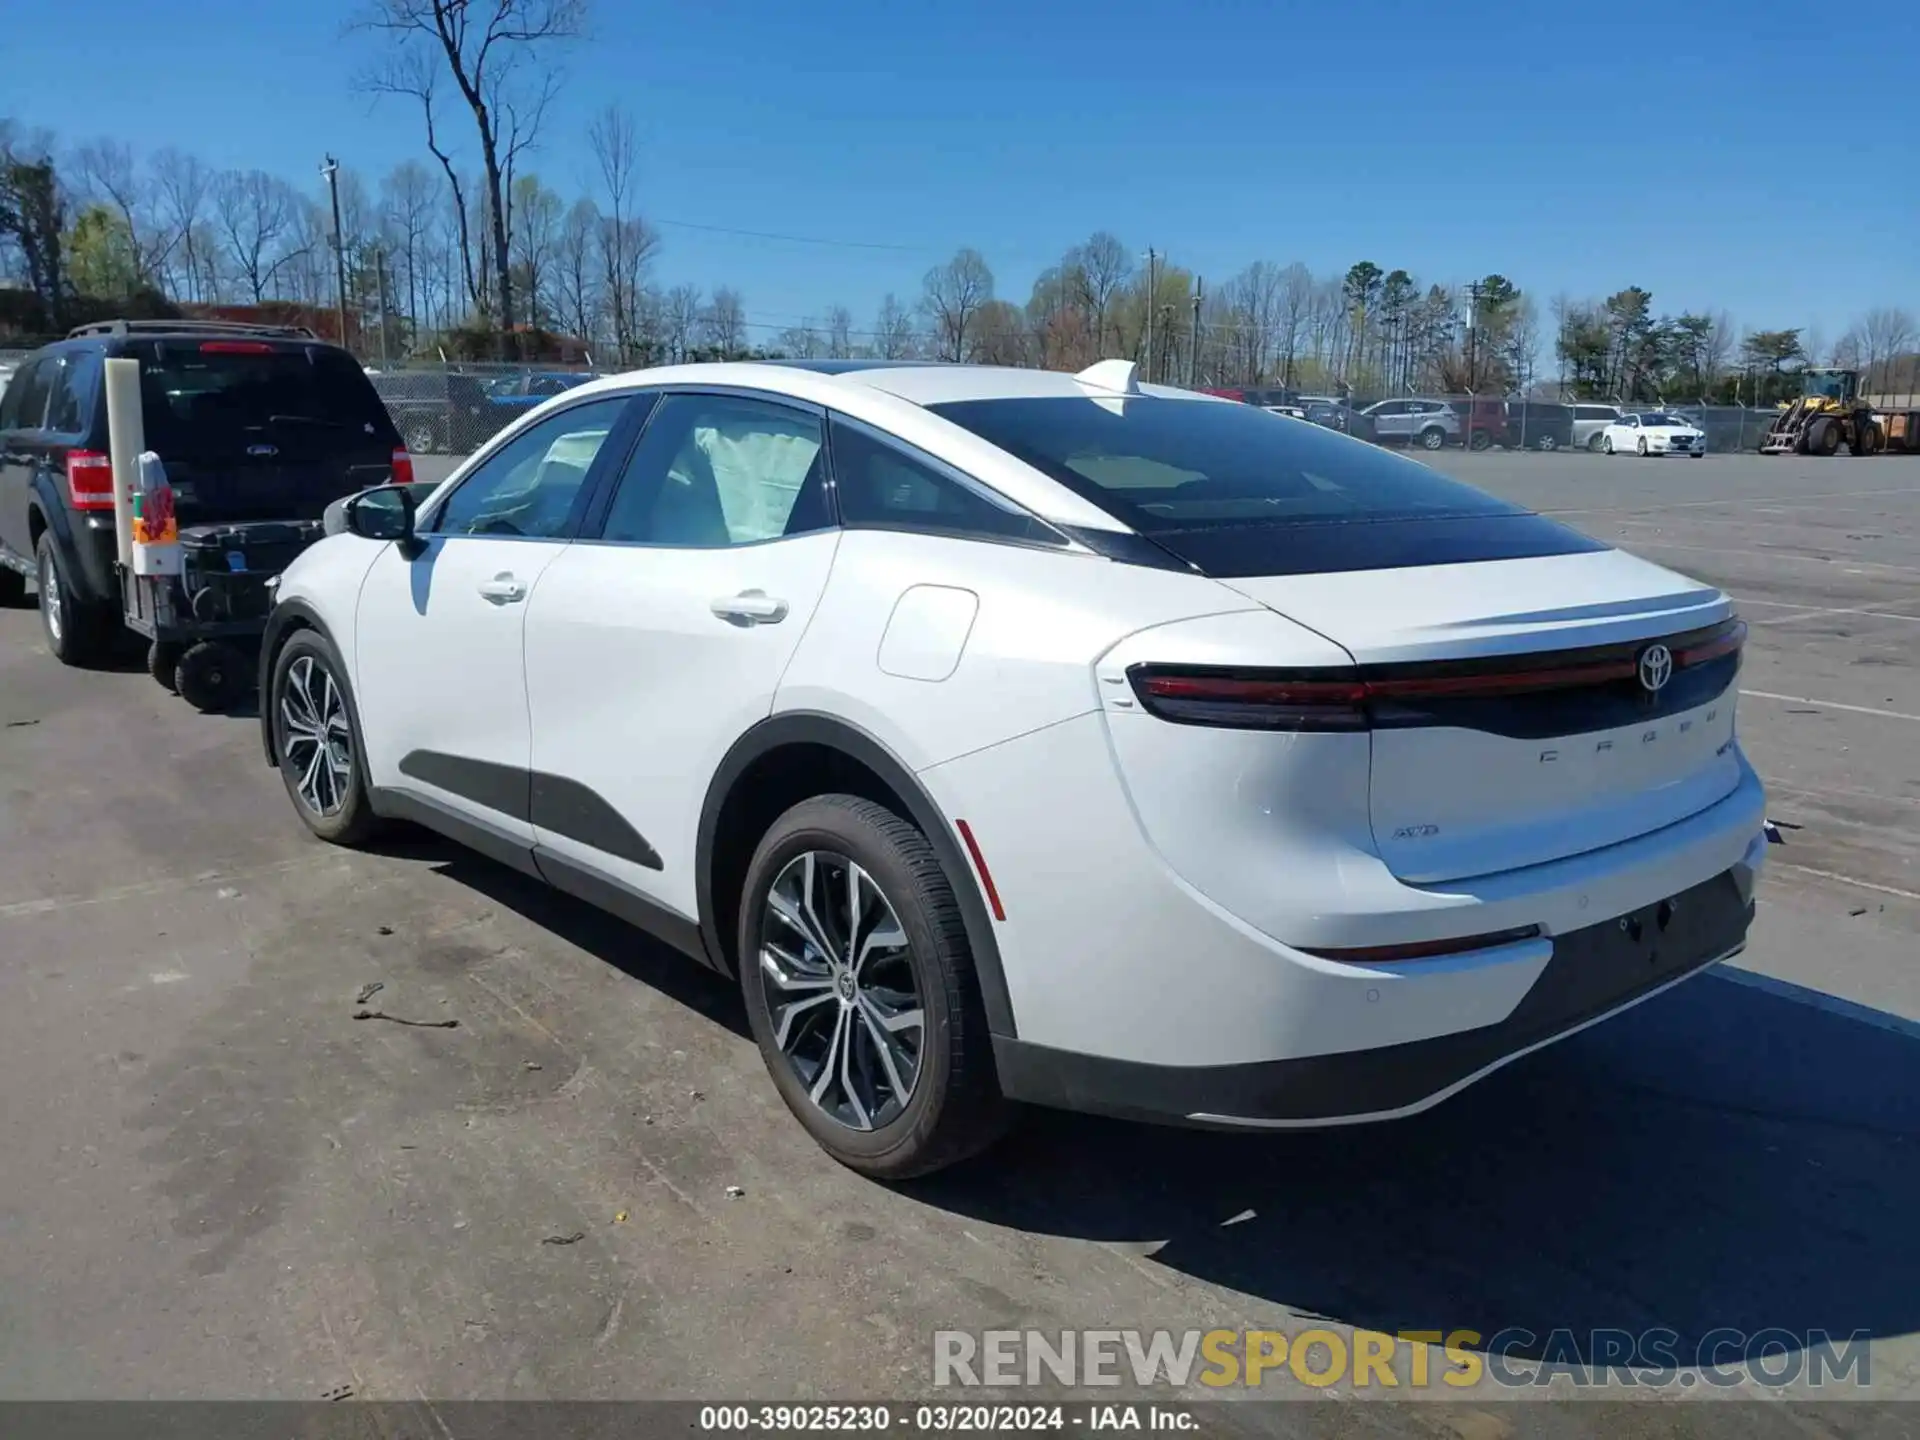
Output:
[[[1732,603],[1622,551],[1221,584],[1327,636],[1388,693],[1442,682],[1373,707],[1373,837],[1409,883],[1617,845],[1740,783],[1740,659],[1715,637]],[[1647,691],[1655,641],[1672,668]]]

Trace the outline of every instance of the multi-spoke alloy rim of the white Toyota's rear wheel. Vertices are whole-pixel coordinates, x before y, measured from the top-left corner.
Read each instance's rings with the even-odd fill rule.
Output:
[[[893,902],[831,851],[793,856],[766,893],[760,970],[774,1044],[829,1119],[872,1131],[920,1081],[925,1008]]]

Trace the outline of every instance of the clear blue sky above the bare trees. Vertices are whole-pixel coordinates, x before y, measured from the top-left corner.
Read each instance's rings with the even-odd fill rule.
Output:
[[[175,144],[221,167],[369,179],[424,157],[344,36],[357,0],[69,0],[8,19],[0,113],[63,140]],[[956,246],[1023,301],[1094,228],[1210,284],[1252,259],[1421,280],[1500,271],[1542,298],[1626,284],[1747,326],[1920,309],[1920,12],[1820,42],[1805,4],[597,0],[561,52],[534,167],[591,182],[607,102],[641,132],[659,278],[749,317],[866,323]],[[1905,12],[1905,13],[1903,13]],[[84,44],[75,29],[111,35]],[[449,123],[455,119],[449,113]],[[1830,177],[1809,184],[1807,175]],[[1824,198],[1814,198],[1822,194]]]

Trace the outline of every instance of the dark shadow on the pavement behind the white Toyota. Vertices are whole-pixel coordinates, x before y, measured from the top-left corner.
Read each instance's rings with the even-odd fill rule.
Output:
[[[1730,1363],[1761,1332],[1778,1356],[1920,1329],[1916,1121],[1912,1035],[1709,975],[1421,1117],[1242,1137],[1035,1114],[912,1192],[1162,1242],[1152,1263],[1373,1331],[1645,1363],[1594,1331],[1665,1327],[1668,1363],[1703,1342]]]

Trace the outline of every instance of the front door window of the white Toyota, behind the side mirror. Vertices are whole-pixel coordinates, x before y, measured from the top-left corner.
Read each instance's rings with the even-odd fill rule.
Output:
[[[593,457],[626,403],[626,396],[593,399],[528,426],[461,480],[424,528],[442,536],[564,536]]]

